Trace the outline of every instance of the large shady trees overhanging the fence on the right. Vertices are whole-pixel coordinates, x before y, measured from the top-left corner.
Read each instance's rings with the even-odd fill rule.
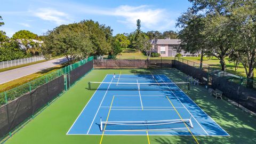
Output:
[[[201,63],[204,55],[218,58],[223,71],[226,57],[242,63],[247,86],[252,87],[256,65],[256,1],[189,1],[193,6],[177,22],[181,28],[178,36],[181,49],[201,53]]]

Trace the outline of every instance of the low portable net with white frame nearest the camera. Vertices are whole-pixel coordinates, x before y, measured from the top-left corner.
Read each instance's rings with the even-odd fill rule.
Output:
[[[169,119],[161,121],[101,121],[101,131],[184,131],[193,128],[189,119]]]

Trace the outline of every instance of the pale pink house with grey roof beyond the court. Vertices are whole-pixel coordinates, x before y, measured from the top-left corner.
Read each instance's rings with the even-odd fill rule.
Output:
[[[194,57],[198,54],[190,54],[185,51],[177,52],[177,47],[180,45],[180,39],[154,39],[151,41],[153,45],[153,52],[160,53],[162,57],[175,57],[177,53],[181,53],[183,57]]]

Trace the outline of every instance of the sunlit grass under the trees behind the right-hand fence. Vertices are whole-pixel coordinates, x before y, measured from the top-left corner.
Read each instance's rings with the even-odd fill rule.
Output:
[[[194,62],[200,63],[200,57],[182,57],[182,58],[186,59],[186,60],[190,60],[190,61],[194,61]],[[234,63],[233,62],[229,63],[228,62],[228,58],[225,59],[225,62],[226,62],[226,67],[227,67],[227,72],[228,73],[231,73],[231,74],[234,74],[234,75],[238,75],[238,76],[246,77],[245,69],[244,69],[242,64],[240,64],[238,66],[238,69],[235,71],[235,67],[234,67]],[[208,58],[204,57],[203,63],[209,65],[211,68],[221,69],[220,60],[218,60],[217,58],[208,59]],[[256,73],[256,69],[254,69],[254,73]],[[254,75],[254,79],[255,78],[256,78],[256,75]]]

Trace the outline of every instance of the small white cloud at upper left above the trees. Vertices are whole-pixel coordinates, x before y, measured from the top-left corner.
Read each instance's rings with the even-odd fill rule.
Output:
[[[37,9],[33,12],[33,14],[38,18],[41,18],[46,21],[54,22],[57,25],[62,25],[70,22],[70,18],[68,14],[51,9],[51,8]]]

